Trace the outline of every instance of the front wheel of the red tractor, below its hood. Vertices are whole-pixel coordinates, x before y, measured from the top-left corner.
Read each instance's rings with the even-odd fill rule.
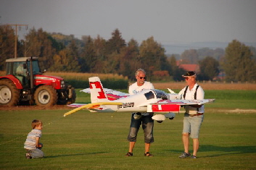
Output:
[[[34,99],[38,106],[53,106],[57,103],[57,91],[50,85],[42,85],[36,89]]]

